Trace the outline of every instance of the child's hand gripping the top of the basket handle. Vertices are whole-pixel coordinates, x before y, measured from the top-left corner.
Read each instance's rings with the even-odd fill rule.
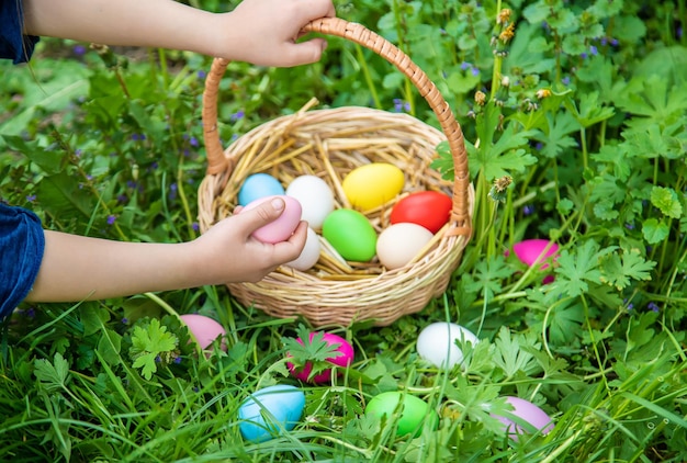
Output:
[[[215,56],[259,66],[315,63],[326,41],[296,39],[308,22],[335,15],[331,0],[244,0],[233,12],[217,15]]]

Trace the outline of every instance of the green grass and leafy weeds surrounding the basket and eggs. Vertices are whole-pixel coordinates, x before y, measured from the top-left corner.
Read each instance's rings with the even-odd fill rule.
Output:
[[[23,305],[0,327],[0,460],[687,461],[685,0],[359,0],[337,10],[404,49],[465,132],[474,237],[449,290],[388,327],[329,327],[357,359],[320,386],[285,365],[305,323],[241,306],[224,287]],[[387,63],[329,44],[312,66],[230,64],[224,143],[312,97],[436,125]],[[80,235],[198,236],[210,59],[134,52],[44,39],[31,66],[0,64],[0,199]],[[438,148],[435,167],[451,178]],[[560,257],[525,267],[508,250],[527,238],[554,241]],[[199,355],[177,317],[187,313],[222,323],[228,351]],[[418,358],[419,330],[438,320],[483,340],[465,347],[462,368]],[[241,400],[277,383],[305,392],[302,422],[244,441]],[[427,400],[438,429],[396,437],[397,416],[367,417],[385,391]],[[509,395],[538,404],[555,428],[508,439],[489,411]]]

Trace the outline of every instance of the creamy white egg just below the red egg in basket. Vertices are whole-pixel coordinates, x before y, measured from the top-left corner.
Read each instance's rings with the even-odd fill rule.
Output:
[[[388,270],[408,263],[427,245],[433,234],[421,225],[399,223],[391,225],[376,240],[376,256]]]

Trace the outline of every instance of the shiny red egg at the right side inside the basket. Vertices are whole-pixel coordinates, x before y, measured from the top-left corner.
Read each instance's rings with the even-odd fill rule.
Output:
[[[392,224],[403,222],[421,225],[436,234],[449,222],[451,196],[438,191],[420,191],[402,199],[391,211]]]

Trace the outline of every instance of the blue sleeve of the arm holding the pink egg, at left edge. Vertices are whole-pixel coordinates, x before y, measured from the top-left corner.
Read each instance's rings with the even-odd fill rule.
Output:
[[[31,211],[0,203],[0,319],[33,287],[44,249],[41,219]]]

